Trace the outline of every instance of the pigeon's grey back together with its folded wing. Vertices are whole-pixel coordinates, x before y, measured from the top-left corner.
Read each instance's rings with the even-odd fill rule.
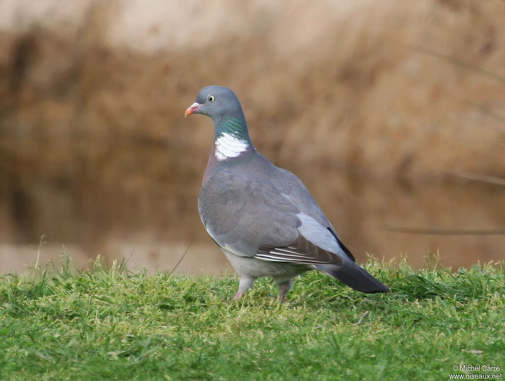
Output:
[[[240,256],[295,264],[341,264],[343,246],[307,188],[260,154],[212,171],[198,197],[214,241]]]

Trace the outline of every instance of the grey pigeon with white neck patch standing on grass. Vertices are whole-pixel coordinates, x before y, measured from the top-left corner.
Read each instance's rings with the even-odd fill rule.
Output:
[[[204,87],[184,116],[191,114],[214,121],[198,211],[239,276],[233,300],[256,279],[272,277],[283,301],[292,279],[312,269],[361,292],[390,291],[356,263],[306,186],[252,145],[232,90]]]

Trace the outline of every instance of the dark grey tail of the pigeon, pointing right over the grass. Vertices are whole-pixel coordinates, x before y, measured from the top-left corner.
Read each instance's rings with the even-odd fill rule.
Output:
[[[341,265],[318,264],[314,267],[361,292],[371,294],[391,291],[355,262],[344,261]]]

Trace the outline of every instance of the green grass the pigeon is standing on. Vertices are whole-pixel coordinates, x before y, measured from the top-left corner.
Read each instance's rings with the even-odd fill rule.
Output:
[[[366,295],[311,271],[287,302],[271,280],[230,302],[234,277],[68,263],[0,278],[0,378],[448,379],[505,367],[503,263],[452,273],[371,260]],[[366,313],[366,311],[369,311]],[[475,372],[474,372],[475,373]]]

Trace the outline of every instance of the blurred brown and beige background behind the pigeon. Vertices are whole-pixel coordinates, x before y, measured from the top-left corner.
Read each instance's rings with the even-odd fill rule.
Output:
[[[223,271],[196,207],[212,121],[184,119],[210,84],[359,262],[505,259],[503,20],[502,0],[0,0],[0,274],[62,252]]]

